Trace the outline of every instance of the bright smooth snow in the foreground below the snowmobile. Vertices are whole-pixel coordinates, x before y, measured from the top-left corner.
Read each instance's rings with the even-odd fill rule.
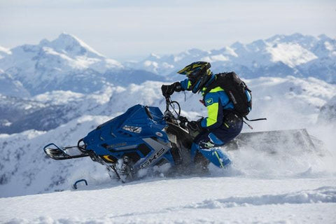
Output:
[[[155,179],[0,198],[4,223],[333,223],[335,209],[335,179]]]

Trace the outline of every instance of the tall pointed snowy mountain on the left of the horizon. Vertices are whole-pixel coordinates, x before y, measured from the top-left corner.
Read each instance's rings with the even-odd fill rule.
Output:
[[[125,68],[108,59],[71,34],[60,34],[53,41],[43,39],[38,45],[21,45],[3,54],[0,69],[22,83],[29,94],[52,90],[89,93],[106,83],[128,85],[130,80],[163,80],[148,71]],[[6,92],[0,91],[1,94]]]

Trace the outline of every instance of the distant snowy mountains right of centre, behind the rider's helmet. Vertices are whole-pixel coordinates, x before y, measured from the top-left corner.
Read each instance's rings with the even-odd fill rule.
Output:
[[[276,35],[252,43],[233,43],[219,50],[191,49],[176,55],[150,55],[129,66],[168,76],[195,61],[211,62],[215,73],[236,71],[244,78],[260,76],[314,77],[336,83],[336,39],[292,34]]]

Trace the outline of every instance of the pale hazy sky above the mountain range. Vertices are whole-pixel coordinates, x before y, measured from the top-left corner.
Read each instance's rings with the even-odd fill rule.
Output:
[[[0,0],[0,45],[66,32],[123,61],[300,32],[336,37],[336,0]]]

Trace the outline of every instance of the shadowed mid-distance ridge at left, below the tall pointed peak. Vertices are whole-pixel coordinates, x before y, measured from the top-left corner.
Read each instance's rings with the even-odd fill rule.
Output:
[[[110,86],[90,95],[53,91],[30,99],[1,96],[0,133],[13,134],[33,129],[46,131],[86,113],[100,114],[99,106],[109,101],[116,91],[118,88]]]

